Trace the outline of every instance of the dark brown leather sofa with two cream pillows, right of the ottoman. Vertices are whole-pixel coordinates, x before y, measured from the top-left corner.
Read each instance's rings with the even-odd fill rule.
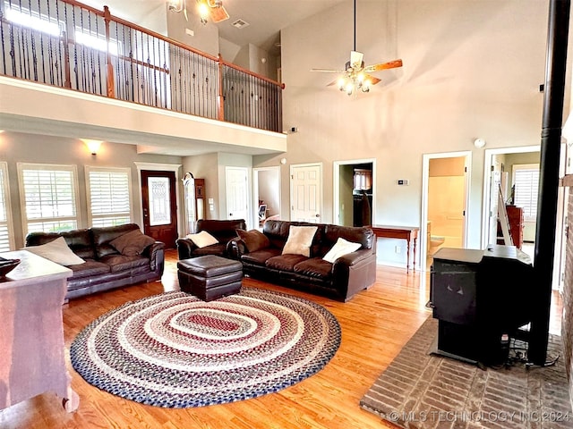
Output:
[[[310,257],[282,255],[291,225],[317,226]],[[231,256],[243,263],[244,275],[304,290],[339,301],[351,299],[376,280],[376,237],[372,228],[269,220],[262,233],[269,246],[249,252],[244,240],[229,243]],[[338,238],[360,243],[358,250],[333,264],[322,259]]]

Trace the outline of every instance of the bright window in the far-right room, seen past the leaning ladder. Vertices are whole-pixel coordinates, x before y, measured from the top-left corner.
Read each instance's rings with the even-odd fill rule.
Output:
[[[513,186],[513,204],[523,207],[525,221],[535,221],[539,192],[539,164],[513,165]]]

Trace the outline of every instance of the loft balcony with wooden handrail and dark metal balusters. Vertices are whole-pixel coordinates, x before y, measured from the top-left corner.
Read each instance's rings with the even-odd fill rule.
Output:
[[[286,151],[283,85],[73,0],[0,3],[0,128],[140,153]],[[212,149],[212,150],[211,150]]]

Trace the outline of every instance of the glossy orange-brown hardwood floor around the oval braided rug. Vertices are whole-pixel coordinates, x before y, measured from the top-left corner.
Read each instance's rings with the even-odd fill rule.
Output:
[[[280,290],[310,299],[336,315],[342,328],[337,354],[318,374],[283,391],[231,404],[169,409],[124,400],[86,383],[69,362],[69,347],[81,329],[126,301],[177,290],[176,252],[167,251],[162,282],[113,290],[64,306],[66,358],[80,408],[68,414],[51,393],[0,411],[3,429],[45,428],[381,428],[389,425],[359,407],[363,397],[431,312],[427,273],[378,265],[377,281],[354,299],[330,299],[244,279],[245,286]],[[558,303],[557,311],[560,311]],[[554,313],[555,314],[555,313]],[[552,331],[560,317],[552,318]]]

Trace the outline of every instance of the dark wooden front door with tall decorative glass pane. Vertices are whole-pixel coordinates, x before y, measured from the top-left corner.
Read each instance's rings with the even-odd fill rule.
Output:
[[[141,206],[143,231],[166,248],[175,248],[177,240],[177,202],[175,172],[141,170]]]

